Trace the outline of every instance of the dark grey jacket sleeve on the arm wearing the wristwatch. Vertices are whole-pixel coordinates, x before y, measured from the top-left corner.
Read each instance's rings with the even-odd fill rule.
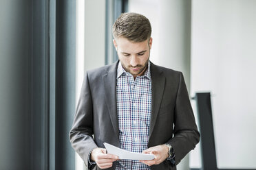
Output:
[[[186,156],[200,141],[200,133],[195,124],[189,94],[186,90],[184,77],[180,73],[180,82],[175,101],[173,138],[168,143],[175,153],[175,165]]]

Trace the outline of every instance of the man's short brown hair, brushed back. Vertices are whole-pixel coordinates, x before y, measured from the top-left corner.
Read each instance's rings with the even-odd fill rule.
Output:
[[[124,37],[134,42],[142,42],[151,37],[149,19],[133,12],[121,14],[112,27],[114,38]]]

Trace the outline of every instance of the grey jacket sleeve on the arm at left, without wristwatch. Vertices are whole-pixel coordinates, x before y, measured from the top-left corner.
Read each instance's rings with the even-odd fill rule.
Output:
[[[78,100],[76,114],[72,129],[70,130],[70,142],[72,147],[85,162],[88,169],[92,169],[88,162],[92,149],[97,147],[93,138],[93,106],[92,94],[89,87],[88,74],[86,73]]]

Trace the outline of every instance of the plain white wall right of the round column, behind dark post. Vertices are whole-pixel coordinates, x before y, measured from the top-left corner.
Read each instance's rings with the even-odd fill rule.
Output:
[[[217,165],[255,169],[256,1],[192,2],[191,93],[213,93]]]

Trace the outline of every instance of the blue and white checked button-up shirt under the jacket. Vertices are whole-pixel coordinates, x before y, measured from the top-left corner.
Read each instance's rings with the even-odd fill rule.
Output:
[[[121,62],[117,71],[117,113],[120,148],[141,153],[147,149],[151,117],[151,73],[150,62],[142,76],[134,80],[131,73],[123,69]],[[119,160],[119,169],[150,169],[138,160]]]

